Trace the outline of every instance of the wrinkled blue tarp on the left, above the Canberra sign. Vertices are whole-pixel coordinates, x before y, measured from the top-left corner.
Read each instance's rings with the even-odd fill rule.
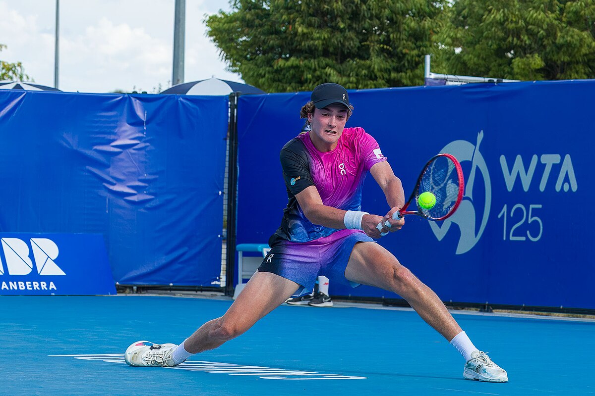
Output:
[[[101,233],[119,283],[210,286],[227,127],[226,96],[0,91],[0,231]]]

